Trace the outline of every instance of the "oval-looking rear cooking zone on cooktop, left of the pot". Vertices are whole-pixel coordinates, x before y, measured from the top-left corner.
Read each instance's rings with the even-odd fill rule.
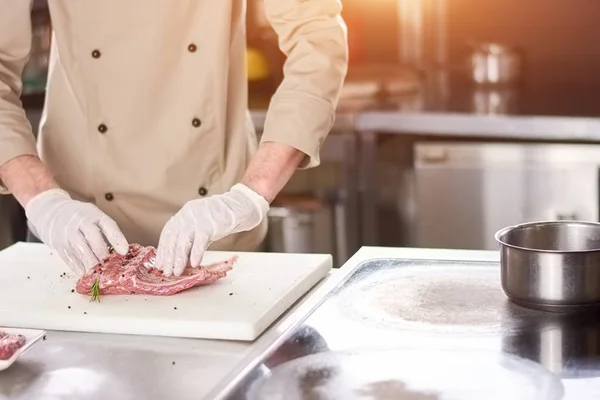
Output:
[[[496,264],[477,269],[416,264],[354,285],[339,299],[342,312],[382,328],[463,334],[498,332],[502,321],[532,314],[511,309]]]

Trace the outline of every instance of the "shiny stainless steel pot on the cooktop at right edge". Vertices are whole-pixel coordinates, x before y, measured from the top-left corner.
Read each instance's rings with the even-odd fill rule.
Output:
[[[502,289],[527,308],[568,311],[600,304],[600,224],[531,222],[495,235]]]

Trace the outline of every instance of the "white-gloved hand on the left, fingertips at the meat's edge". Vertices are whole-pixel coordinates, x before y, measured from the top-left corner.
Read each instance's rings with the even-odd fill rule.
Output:
[[[58,252],[78,275],[109,254],[125,255],[128,243],[117,223],[91,203],[71,199],[61,189],[42,192],[25,205],[38,238]]]

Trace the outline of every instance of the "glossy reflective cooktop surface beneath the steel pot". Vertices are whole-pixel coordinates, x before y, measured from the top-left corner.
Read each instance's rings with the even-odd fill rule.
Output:
[[[600,317],[512,304],[496,261],[374,259],[242,389],[231,398],[596,399]]]

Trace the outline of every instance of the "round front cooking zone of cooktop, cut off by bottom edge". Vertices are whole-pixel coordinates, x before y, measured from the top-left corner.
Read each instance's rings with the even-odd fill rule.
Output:
[[[254,399],[560,399],[555,376],[525,359],[444,348],[328,352],[256,381]]]

